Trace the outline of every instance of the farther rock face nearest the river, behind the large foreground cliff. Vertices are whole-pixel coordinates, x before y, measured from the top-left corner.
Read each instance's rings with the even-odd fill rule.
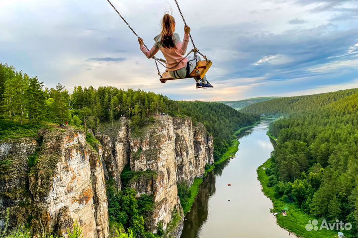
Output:
[[[167,228],[174,211],[183,217],[177,183],[190,185],[205,173],[205,165],[213,162],[213,139],[203,124],[194,126],[190,118],[156,117],[153,124],[135,133],[128,124],[122,118],[114,131],[103,129],[96,138],[103,146],[105,170],[117,187],[121,187],[118,178],[129,161],[136,177],[128,185],[138,197],[153,195],[155,210],[146,225],[155,233],[159,223]],[[181,229],[182,221],[172,236],[179,237]]]

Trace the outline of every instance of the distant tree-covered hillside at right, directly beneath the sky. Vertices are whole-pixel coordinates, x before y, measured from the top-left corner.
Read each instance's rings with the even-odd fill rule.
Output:
[[[358,93],[357,88],[307,96],[283,97],[250,105],[241,109],[240,112],[278,118],[292,113],[316,110],[355,93]]]

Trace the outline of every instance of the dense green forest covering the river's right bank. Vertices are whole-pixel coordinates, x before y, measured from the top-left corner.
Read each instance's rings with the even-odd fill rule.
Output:
[[[350,222],[358,237],[358,93],[357,89],[283,98],[250,111],[280,113],[271,123],[277,138],[271,154],[268,186],[274,197],[296,204],[317,219]],[[282,101],[292,102],[277,110]],[[255,105],[253,105],[255,106]],[[263,111],[259,109],[262,108]],[[306,111],[292,114],[296,111]],[[301,234],[300,234],[301,235]]]

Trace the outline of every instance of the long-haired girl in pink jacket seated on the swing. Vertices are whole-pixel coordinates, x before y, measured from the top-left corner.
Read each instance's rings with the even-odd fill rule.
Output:
[[[185,78],[192,71],[195,70],[196,64],[194,57],[187,57],[184,59],[187,44],[189,42],[190,27],[184,27],[184,40],[180,41],[178,33],[175,33],[175,19],[169,14],[165,14],[162,21],[162,33],[154,38],[154,46],[148,51],[143,45],[143,39],[139,38],[139,46],[144,55],[148,59],[155,56],[159,50],[164,55],[167,61],[167,70],[173,78]],[[200,57],[197,56],[197,60]],[[178,63],[179,62],[179,63]],[[213,86],[206,80],[206,76],[201,79],[195,78],[196,88],[213,88]]]

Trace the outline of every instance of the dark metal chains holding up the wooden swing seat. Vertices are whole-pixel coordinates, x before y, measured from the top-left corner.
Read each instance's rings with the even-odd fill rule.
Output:
[[[119,11],[117,10],[117,8],[115,8],[115,6],[112,4],[112,2],[111,2],[110,0],[107,0],[107,2],[108,2],[108,3],[112,6],[112,8],[117,12],[117,14],[120,16],[120,18],[122,18],[122,20],[124,21],[124,23],[126,23],[126,25],[129,27],[129,29],[134,33],[134,35],[139,39],[140,37],[138,36],[138,34],[133,30],[133,28],[129,25],[129,23],[128,23],[128,22],[124,19],[124,17],[119,13]],[[175,2],[176,2],[176,4],[177,4],[177,7],[178,7],[178,10],[179,10],[181,19],[183,20],[184,25],[187,26],[187,24],[186,24],[186,22],[185,22],[185,19],[184,19],[184,16],[183,16],[183,14],[182,14],[182,12],[181,12],[181,9],[180,9],[180,7],[179,7],[178,1],[175,0]],[[201,55],[206,61],[208,61],[207,58],[206,58],[206,56],[203,55],[203,54],[201,54],[201,53],[199,52],[199,50],[195,47],[194,41],[193,41],[193,39],[192,39],[190,33],[189,33],[189,37],[190,37],[190,40],[191,40],[191,44],[193,45],[193,49],[192,49],[189,53],[187,53],[186,56],[185,56],[183,59],[181,59],[177,64],[175,64],[173,67],[167,67],[167,65],[163,64],[163,63],[167,63],[166,60],[163,60],[163,59],[160,59],[160,58],[156,58],[155,56],[152,57],[152,59],[154,59],[155,64],[156,64],[156,66],[157,66],[158,75],[159,75],[161,78],[163,78],[163,76],[162,76],[162,74],[161,74],[161,72],[160,72],[160,70],[159,70],[158,62],[159,62],[161,65],[163,65],[164,67],[166,67],[167,69],[175,68],[175,67],[178,66],[178,64],[179,64],[182,60],[184,60],[185,58],[187,58],[187,57],[190,55],[190,53],[194,52],[195,65],[196,65],[195,67],[196,67],[196,72],[198,73],[198,72],[199,72],[199,69],[198,69],[198,66],[197,66],[197,54]],[[149,48],[146,46],[146,44],[145,44],[144,42],[143,42],[143,45],[144,45],[144,47],[149,51]],[[163,62],[163,63],[162,63],[162,62]]]

